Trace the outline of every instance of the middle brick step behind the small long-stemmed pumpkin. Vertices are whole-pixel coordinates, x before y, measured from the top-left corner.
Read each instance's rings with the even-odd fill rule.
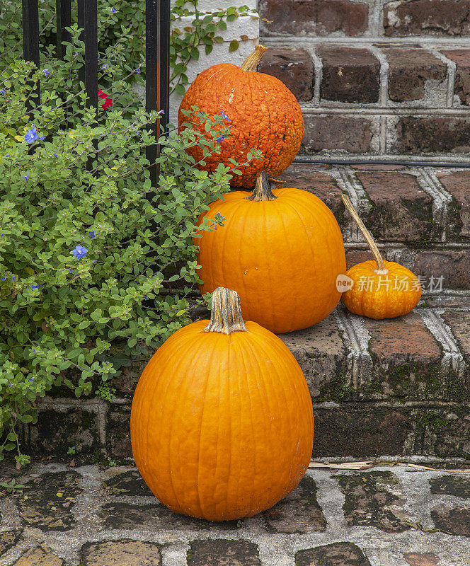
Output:
[[[442,275],[446,289],[470,289],[470,170],[294,163],[280,179],[313,192],[332,210],[347,267],[372,253],[345,214],[342,192],[360,210],[384,258],[424,280]]]

